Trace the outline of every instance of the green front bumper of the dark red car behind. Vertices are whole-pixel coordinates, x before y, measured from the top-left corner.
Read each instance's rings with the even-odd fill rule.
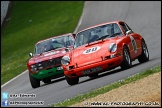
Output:
[[[41,70],[36,74],[31,74],[34,78],[36,79],[43,79],[47,77],[52,77],[52,76],[57,76],[59,74],[64,74],[63,69],[62,70],[57,70],[56,67],[53,67],[51,69],[46,69],[46,70]]]

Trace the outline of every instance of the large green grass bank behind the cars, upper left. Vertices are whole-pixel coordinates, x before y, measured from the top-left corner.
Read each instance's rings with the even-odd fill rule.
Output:
[[[84,1],[15,1],[1,29],[1,85],[27,69],[37,41],[73,32],[83,6]]]

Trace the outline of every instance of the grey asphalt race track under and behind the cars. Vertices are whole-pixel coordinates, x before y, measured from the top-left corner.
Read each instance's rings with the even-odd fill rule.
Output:
[[[65,78],[62,77],[54,79],[51,84],[45,85],[42,83],[41,87],[33,89],[29,82],[28,72],[26,72],[4,87],[1,87],[1,92],[8,92],[9,94],[33,93],[36,94],[35,98],[9,98],[8,100],[44,101],[44,105],[39,105],[39,107],[48,106],[78,94],[85,94],[156,65],[161,65],[161,1],[86,1],[82,20],[77,31],[95,24],[114,20],[125,21],[134,32],[144,37],[148,44],[150,61],[139,64],[136,60],[130,69],[121,71],[119,67],[99,74],[99,77],[96,79],[82,77],[79,79],[79,84],[74,86],[68,85]],[[19,106],[13,105],[12,107]]]

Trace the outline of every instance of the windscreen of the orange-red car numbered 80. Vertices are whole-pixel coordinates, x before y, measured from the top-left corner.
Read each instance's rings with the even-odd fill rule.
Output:
[[[76,35],[74,48],[101,39],[115,37],[117,35],[122,35],[122,32],[116,23],[90,28],[85,31],[79,32]]]

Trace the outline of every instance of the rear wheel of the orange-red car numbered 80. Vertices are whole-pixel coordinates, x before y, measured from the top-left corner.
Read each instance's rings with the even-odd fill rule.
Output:
[[[140,63],[149,61],[149,52],[148,52],[148,49],[147,49],[147,45],[146,45],[146,43],[143,40],[142,40],[142,53],[138,57],[138,61]]]

